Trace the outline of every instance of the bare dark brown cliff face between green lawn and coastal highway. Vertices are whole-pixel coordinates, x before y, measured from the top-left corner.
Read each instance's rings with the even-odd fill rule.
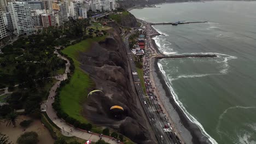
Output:
[[[90,51],[79,56],[81,68],[96,83],[95,89],[103,91],[90,95],[84,104],[84,116],[94,124],[118,130],[137,143],[154,143],[137,108],[121,36],[115,29],[109,34],[105,41],[94,43]],[[123,107],[124,111],[110,110],[114,105]]]

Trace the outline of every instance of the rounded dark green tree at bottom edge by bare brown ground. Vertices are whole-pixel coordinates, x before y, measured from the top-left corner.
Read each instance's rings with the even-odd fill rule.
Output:
[[[35,144],[38,142],[38,134],[34,131],[22,134],[17,140],[18,144]]]

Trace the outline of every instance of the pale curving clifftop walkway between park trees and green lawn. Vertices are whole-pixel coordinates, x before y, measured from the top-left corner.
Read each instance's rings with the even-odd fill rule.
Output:
[[[55,51],[54,53],[56,53],[60,58],[67,61],[66,70],[63,75],[55,76],[55,79],[57,79],[59,81],[57,81],[55,83],[55,85],[51,88],[49,96],[48,96],[48,100],[46,101],[46,104],[43,104],[41,107],[46,108],[46,113],[47,113],[48,117],[51,119],[51,121],[53,121],[57,125],[57,127],[60,128],[62,135],[75,136],[75,137],[79,137],[80,139],[91,140],[93,142],[96,142],[100,139],[100,137],[98,136],[99,134],[94,134],[94,133],[89,134],[86,130],[80,130],[80,129],[72,127],[71,125],[64,122],[62,119],[58,118],[55,110],[53,109],[52,104],[54,103],[54,97],[56,95],[55,91],[56,91],[57,87],[59,87],[60,82],[67,79],[67,73],[70,72],[70,70],[69,70],[70,63],[69,63],[68,59],[66,57],[61,56],[60,53],[57,51]],[[72,129],[72,132],[71,132],[71,129]],[[104,140],[108,143],[111,143],[111,144],[117,143],[117,142],[113,141],[110,136],[103,135],[102,140]]]

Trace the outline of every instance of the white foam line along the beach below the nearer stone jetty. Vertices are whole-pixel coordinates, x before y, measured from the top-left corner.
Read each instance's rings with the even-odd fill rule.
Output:
[[[202,131],[202,134],[205,135],[205,136],[208,138],[208,140],[210,140],[211,143],[217,144],[217,141],[214,140],[209,134],[206,133],[206,131],[205,131],[205,129],[202,127],[201,123],[199,123],[199,122],[196,120],[196,118],[193,117],[192,115],[190,115],[190,113],[185,109],[185,107],[183,106],[183,104],[181,103],[181,101],[179,101],[177,94],[174,92],[174,89],[171,87],[171,83],[167,81],[167,77],[166,77],[166,75],[165,75],[165,71],[162,69],[162,65],[161,65],[160,63],[158,63],[158,66],[159,66],[159,69],[160,69],[161,73],[162,73],[162,74],[164,75],[164,77],[165,77],[165,82],[166,82],[168,88],[170,88],[170,90],[171,90],[172,97],[173,97],[175,103],[176,103],[179,107],[181,107],[181,110],[185,113],[185,115],[188,117],[188,119],[189,119],[191,122],[195,123],[195,124],[199,127],[199,129]]]

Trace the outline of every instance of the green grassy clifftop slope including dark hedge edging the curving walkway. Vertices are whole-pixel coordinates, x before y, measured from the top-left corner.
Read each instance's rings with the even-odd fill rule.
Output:
[[[86,39],[62,50],[63,55],[70,58],[70,62],[74,65],[74,69],[71,69],[72,77],[68,77],[66,81],[62,81],[60,88],[57,88],[57,95],[53,106],[59,117],[62,117],[66,122],[80,129],[92,129],[92,125],[83,117],[82,103],[87,98],[86,95],[89,93],[88,89],[94,84],[89,75],[84,73],[80,68],[78,55],[79,52],[88,50],[93,41],[101,41],[105,38],[106,37],[103,36]]]

